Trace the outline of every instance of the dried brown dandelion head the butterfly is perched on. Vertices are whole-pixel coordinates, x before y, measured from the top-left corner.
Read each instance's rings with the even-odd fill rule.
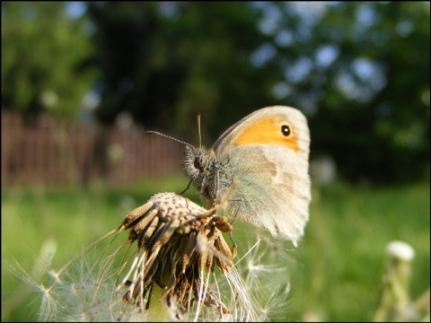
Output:
[[[215,266],[226,276],[235,275],[234,250],[222,235],[232,226],[216,209],[207,211],[183,196],[160,193],[130,212],[119,227],[123,230],[130,230],[128,243],[137,242],[132,265],[116,290],[128,285],[123,301],[148,309],[156,284],[175,319],[183,319],[195,303],[216,310],[221,318],[232,314],[205,282]]]

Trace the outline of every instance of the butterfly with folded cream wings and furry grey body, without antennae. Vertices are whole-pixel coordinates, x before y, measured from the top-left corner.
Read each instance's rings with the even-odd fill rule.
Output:
[[[299,110],[268,107],[242,118],[209,149],[186,146],[183,170],[207,205],[232,188],[231,214],[296,244],[311,200],[309,145]]]

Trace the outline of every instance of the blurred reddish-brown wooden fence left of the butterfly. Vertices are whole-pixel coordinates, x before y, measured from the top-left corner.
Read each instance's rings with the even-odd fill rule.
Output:
[[[184,146],[142,128],[83,125],[2,110],[2,187],[111,183],[180,172]]]

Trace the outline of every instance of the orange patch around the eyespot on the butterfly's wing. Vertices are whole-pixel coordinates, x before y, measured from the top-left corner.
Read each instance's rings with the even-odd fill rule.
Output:
[[[283,135],[281,127],[288,125],[291,134]],[[283,116],[263,118],[242,129],[233,142],[236,146],[246,144],[280,144],[295,152],[299,150],[295,129],[287,124]]]

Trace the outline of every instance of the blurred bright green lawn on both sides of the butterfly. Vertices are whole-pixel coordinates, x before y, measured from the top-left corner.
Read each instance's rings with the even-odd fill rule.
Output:
[[[31,272],[44,243],[55,241],[52,267],[57,269],[117,228],[128,211],[150,196],[180,192],[186,185],[186,179],[170,178],[122,187],[96,183],[90,188],[2,189],[2,320],[35,320],[39,310],[37,292],[23,288],[6,263],[13,265],[15,258]],[[313,190],[303,240],[288,251],[295,261],[286,262],[292,291],[285,318],[302,320],[304,313],[312,313],[323,320],[372,319],[379,304],[384,250],[391,240],[415,249],[411,295],[425,292],[430,284],[429,194],[429,183],[396,188],[337,184]],[[186,196],[199,201],[191,192]]]

